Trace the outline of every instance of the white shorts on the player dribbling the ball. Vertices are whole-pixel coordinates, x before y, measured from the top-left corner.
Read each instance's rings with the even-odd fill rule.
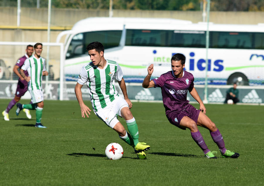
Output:
[[[117,116],[121,117],[121,109],[123,107],[129,107],[126,100],[123,98],[116,98],[114,101],[107,105],[103,109],[94,112],[108,127],[114,128],[119,122]]]

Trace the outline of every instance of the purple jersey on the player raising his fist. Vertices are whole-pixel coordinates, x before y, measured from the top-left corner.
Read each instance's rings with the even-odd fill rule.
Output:
[[[166,115],[170,112],[185,109],[189,103],[187,100],[187,92],[188,90],[191,92],[194,86],[194,77],[191,73],[183,71],[183,76],[176,78],[173,71],[168,71],[160,77],[152,79],[152,81],[155,83],[155,88],[161,88]]]

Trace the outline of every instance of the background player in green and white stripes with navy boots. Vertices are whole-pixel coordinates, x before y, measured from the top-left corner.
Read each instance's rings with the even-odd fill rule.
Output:
[[[44,107],[44,98],[42,92],[42,76],[48,76],[45,67],[45,59],[40,57],[42,52],[42,44],[36,43],[34,45],[35,54],[26,59],[25,63],[20,69],[21,76],[28,82],[28,91],[31,94],[32,104],[22,105],[17,104],[16,115],[24,108],[36,110],[36,124],[37,128],[46,128],[41,124],[42,110]],[[24,71],[28,71],[28,76]]]

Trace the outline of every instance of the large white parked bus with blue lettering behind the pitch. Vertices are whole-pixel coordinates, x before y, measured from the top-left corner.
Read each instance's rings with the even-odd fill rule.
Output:
[[[99,41],[105,58],[119,63],[126,82],[142,82],[154,64],[153,78],[171,70],[175,53],[186,56],[185,69],[204,84],[206,23],[165,18],[86,18],[65,39],[65,74],[76,81],[90,61],[86,46]],[[208,84],[264,85],[264,24],[209,24]]]

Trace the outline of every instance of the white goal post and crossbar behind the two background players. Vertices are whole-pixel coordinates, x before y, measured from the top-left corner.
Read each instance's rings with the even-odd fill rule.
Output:
[[[37,42],[0,42],[0,45],[35,45]],[[64,86],[64,60],[65,56],[63,55],[63,43],[54,43],[54,42],[42,42],[43,46],[59,46],[60,47],[60,95],[59,99],[64,100],[64,92],[65,88]],[[48,69],[47,69],[48,70]],[[66,94],[65,94],[66,95]],[[66,96],[67,97],[67,96]]]

